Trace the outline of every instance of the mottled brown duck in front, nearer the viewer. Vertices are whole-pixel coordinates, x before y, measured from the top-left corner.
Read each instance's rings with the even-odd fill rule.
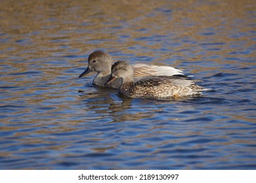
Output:
[[[180,75],[146,76],[134,81],[133,67],[127,61],[117,61],[106,84],[121,78],[118,93],[129,98],[171,98],[201,95],[205,88],[195,84],[194,80]]]

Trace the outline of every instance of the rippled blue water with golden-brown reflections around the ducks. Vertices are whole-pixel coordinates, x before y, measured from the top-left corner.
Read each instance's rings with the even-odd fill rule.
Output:
[[[255,1],[1,1],[0,169],[256,169]],[[201,97],[78,78],[102,49],[171,65]]]

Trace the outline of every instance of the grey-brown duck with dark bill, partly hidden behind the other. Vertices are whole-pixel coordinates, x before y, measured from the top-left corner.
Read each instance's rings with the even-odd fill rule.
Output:
[[[118,89],[121,85],[121,78],[117,78],[115,81],[106,84],[106,81],[111,76],[111,68],[114,61],[110,54],[103,52],[101,50],[96,50],[89,55],[88,58],[88,67],[79,75],[79,78],[88,75],[92,71],[95,71],[97,75],[93,79],[93,84],[95,86],[99,86],[102,88],[113,88]],[[184,75],[183,72],[179,69],[175,69],[174,67],[170,66],[158,66],[158,65],[147,65],[143,63],[133,65],[133,73],[135,76],[135,81],[140,80],[144,76],[149,75],[166,75],[166,76],[173,76],[173,75]],[[106,85],[105,85],[106,84]]]

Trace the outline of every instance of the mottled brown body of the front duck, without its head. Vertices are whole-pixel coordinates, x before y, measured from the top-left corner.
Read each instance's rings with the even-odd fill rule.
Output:
[[[149,76],[137,82],[125,82],[118,92],[130,98],[168,98],[200,95],[203,88],[192,80],[173,76]]]

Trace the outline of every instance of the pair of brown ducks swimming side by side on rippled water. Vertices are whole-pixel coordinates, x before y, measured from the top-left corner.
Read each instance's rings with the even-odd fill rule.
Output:
[[[96,71],[93,84],[104,88],[118,89],[118,92],[131,98],[170,98],[200,95],[205,88],[184,76],[173,67],[137,64],[133,67],[126,61],[113,64],[106,52],[96,51],[88,58],[87,69],[82,76]]]

